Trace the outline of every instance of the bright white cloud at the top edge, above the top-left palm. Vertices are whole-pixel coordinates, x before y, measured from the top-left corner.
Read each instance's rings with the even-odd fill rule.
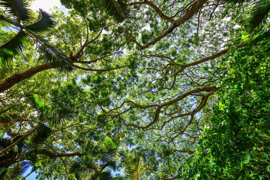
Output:
[[[49,12],[50,8],[53,8],[53,6],[60,7],[61,3],[60,0],[35,0],[32,1],[31,9],[38,10],[39,8]]]

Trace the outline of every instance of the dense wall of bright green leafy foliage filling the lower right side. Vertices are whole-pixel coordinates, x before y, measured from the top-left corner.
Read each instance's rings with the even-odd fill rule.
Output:
[[[199,147],[179,168],[179,178],[269,178],[269,33],[253,36],[220,63],[221,90],[213,112],[203,117],[211,127],[203,128]]]

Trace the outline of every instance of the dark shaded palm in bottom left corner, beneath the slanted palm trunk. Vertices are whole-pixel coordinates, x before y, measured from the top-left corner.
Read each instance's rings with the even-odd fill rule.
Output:
[[[1,164],[0,168],[0,179],[15,179],[17,176],[22,176],[29,167],[32,167],[31,173],[41,167],[41,160],[35,152],[43,147],[50,134],[52,134],[51,129],[42,126],[29,139],[22,140],[18,143],[17,149],[13,147],[9,149],[6,155],[1,155],[0,158],[3,164]],[[18,139],[19,137],[14,137],[14,139]],[[11,143],[12,141],[10,139],[0,139],[0,146],[3,148],[9,146]],[[5,159],[10,158],[12,159],[11,161],[5,161]]]

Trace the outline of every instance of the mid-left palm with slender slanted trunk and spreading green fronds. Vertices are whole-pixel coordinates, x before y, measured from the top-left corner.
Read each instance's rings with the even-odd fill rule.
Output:
[[[16,123],[29,123],[33,125],[32,129],[24,134],[19,134],[13,137],[12,143],[1,150],[0,155],[7,153],[14,146],[18,145],[23,140],[26,140],[29,136],[34,134],[36,131],[40,130],[43,126],[56,126],[65,123],[66,121],[71,121],[73,118],[77,117],[77,110],[73,108],[63,108],[56,112],[50,112],[48,102],[45,102],[37,94],[27,95],[30,100],[29,104],[33,112],[37,113],[35,120],[29,120],[19,114],[8,114],[0,117],[0,127],[6,129],[10,128],[11,125]]]

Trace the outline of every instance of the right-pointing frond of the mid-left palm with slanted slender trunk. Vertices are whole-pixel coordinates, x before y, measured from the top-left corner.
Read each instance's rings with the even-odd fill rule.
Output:
[[[52,113],[48,118],[50,126],[56,126],[65,122],[70,122],[78,116],[78,111],[75,108],[62,108],[59,111]]]

